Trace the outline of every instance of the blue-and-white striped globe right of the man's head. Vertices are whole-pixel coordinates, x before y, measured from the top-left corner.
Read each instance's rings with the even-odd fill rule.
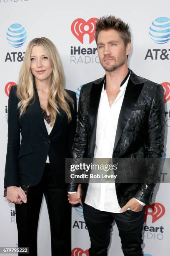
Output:
[[[170,41],[170,19],[167,17],[155,19],[149,28],[149,34],[157,44],[165,44]]]

